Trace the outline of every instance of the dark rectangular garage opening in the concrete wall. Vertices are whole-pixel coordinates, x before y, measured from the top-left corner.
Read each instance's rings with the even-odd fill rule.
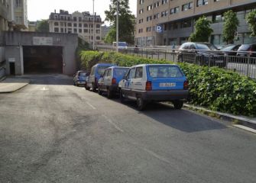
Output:
[[[62,47],[23,47],[24,74],[63,73]]]

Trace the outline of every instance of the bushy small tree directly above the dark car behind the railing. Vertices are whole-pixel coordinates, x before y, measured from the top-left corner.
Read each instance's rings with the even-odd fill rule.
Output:
[[[208,42],[212,32],[211,21],[203,16],[196,21],[195,32],[190,35],[190,41]]]

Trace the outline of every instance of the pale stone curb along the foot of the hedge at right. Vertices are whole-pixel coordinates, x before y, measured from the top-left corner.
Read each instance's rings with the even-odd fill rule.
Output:
[[[245,127],[250,127],[256,130],[256,120],[251,120],[251,119],[248,119],[247,117],[240,117],[240,116],[226,114],[218,111],[211,111],[209,109],[196,107],[190,104],[184,104],[184,107],[191,109],[193,111],[203,111],[203,114],[206,114],[208,116],[218,117],[222,120],[228,120],[233,122],[234,124],[241,124],[241,125],[244,125]]]

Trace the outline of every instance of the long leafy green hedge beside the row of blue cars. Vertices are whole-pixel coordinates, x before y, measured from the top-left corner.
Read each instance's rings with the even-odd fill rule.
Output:
[[[115,63],[134,66],[141,63],[172,63],[166,60],[146,59],[121,53],[83,51],[82,65],[90,69],[96,63]],[[216,67],[178,64],[190,82],[190,104],[213,111],[256,116],[256,82],[235,72]]]

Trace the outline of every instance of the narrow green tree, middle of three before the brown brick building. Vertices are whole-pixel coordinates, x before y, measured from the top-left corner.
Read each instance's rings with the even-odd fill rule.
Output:
[[[232,10],[226,11],[224,14],[224,24],[222,30],[222,37],[227,44],[234,43],[235,34],[238,30],[239,21],[238,18]]]

